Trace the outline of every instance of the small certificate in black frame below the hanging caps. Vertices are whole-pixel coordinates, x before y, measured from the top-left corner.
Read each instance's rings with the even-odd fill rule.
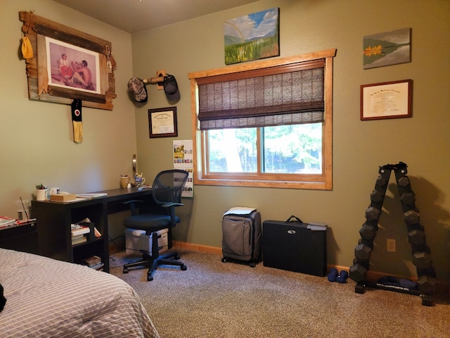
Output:
[[[176,107],[148,109],[150,139],[154,137],[177,137]]]

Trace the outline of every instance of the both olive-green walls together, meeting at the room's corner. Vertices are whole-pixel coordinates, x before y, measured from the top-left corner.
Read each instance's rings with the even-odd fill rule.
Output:
[[[153,85],[148,85],[146,104],[133,104],[127,81],[133,75],[153,77],[158,69],[174,74],[181,91],[176,103],[178,139],[191,139],[187,74],[224,66],[224,20],[272,7],[280,8],[281,56],[338,49],[333,190],[195,187],[194,198],[185,199],[186,206],[180,209],[183,220],[176,239],[220,247],[224,211],[231,206],[255,206],[263,220],[284,220],[295,214],[304,221],[327,223],[328,263],[352,265],[378,166],[404,161],[409,165],[437,277],[449,282],[450,46],[446,42],[450,39],[450,4],[444,0],[262,0],[132,36],[53,1],[1,1],[0,214],[15,213],[15,199],[30,198],[34,184],[40,182],[71,192],[118,187],[117,177],[131,173],[131,154],[136,151],[139,171],[150,180],[159,170],[171,168],[174,138],[148,137],[148,109],[171,104]],[[113,43],[118,64],[115,109],[83,109],[82,144],[72,142],[69,106],[27,99],[25,61],[18,56],[22,25],[18,11],[30,9]],[[406,27],[412,28],[411,63],[362,69],[364,35]],[[359,120],[361,84],[404,79],[414,82],[413,118]],[[384,209],[371,270],[415,276],[393,179]],[[397,240],[397,253],[385,251],[387,238]]]

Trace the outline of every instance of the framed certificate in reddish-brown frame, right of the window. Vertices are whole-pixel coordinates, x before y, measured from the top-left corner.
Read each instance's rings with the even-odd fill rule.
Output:
[[[411,117],[413,80],[361,85],[361,120]]]

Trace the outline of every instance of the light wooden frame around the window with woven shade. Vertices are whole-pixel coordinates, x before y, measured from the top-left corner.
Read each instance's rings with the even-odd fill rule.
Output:
[[[191,122],[193,134],[193,182],[196,185],[233,186],[233,187],[272,187],[288,189],[333,189],[333,58],[336,49],[327,49],[300,56],[276,58],[271,60],[256,61],[203,70],[188,73],[191,82]],[[264,68],[278,67],[281,65],[295,65],[308,61],[323,59],[325,61],[324,73],[324,122],[322,124],[322,175],[313,174],[265,174],[261,173],[221,173],[212,175],[206,173],[207,151],[205,149],[205,133],[200,130],[198,121],[198,82],[205,77],[217,75],[239,76],[245,72],[264,70]],[[243,75],[244,77],[245,75]],[[257,130],[259,132],[259,130]],[[259,144],[257,145],[260,154]],[[258,158],[260,159],[260,158]]]

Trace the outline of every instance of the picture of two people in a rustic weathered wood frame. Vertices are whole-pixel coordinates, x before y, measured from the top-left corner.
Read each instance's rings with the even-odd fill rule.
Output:
[[[80,99],[83,106],[113,110],[110,42],[32,12],[20,12],[19,19],[34,51],[26,60],[30,99],[60,104]]]

